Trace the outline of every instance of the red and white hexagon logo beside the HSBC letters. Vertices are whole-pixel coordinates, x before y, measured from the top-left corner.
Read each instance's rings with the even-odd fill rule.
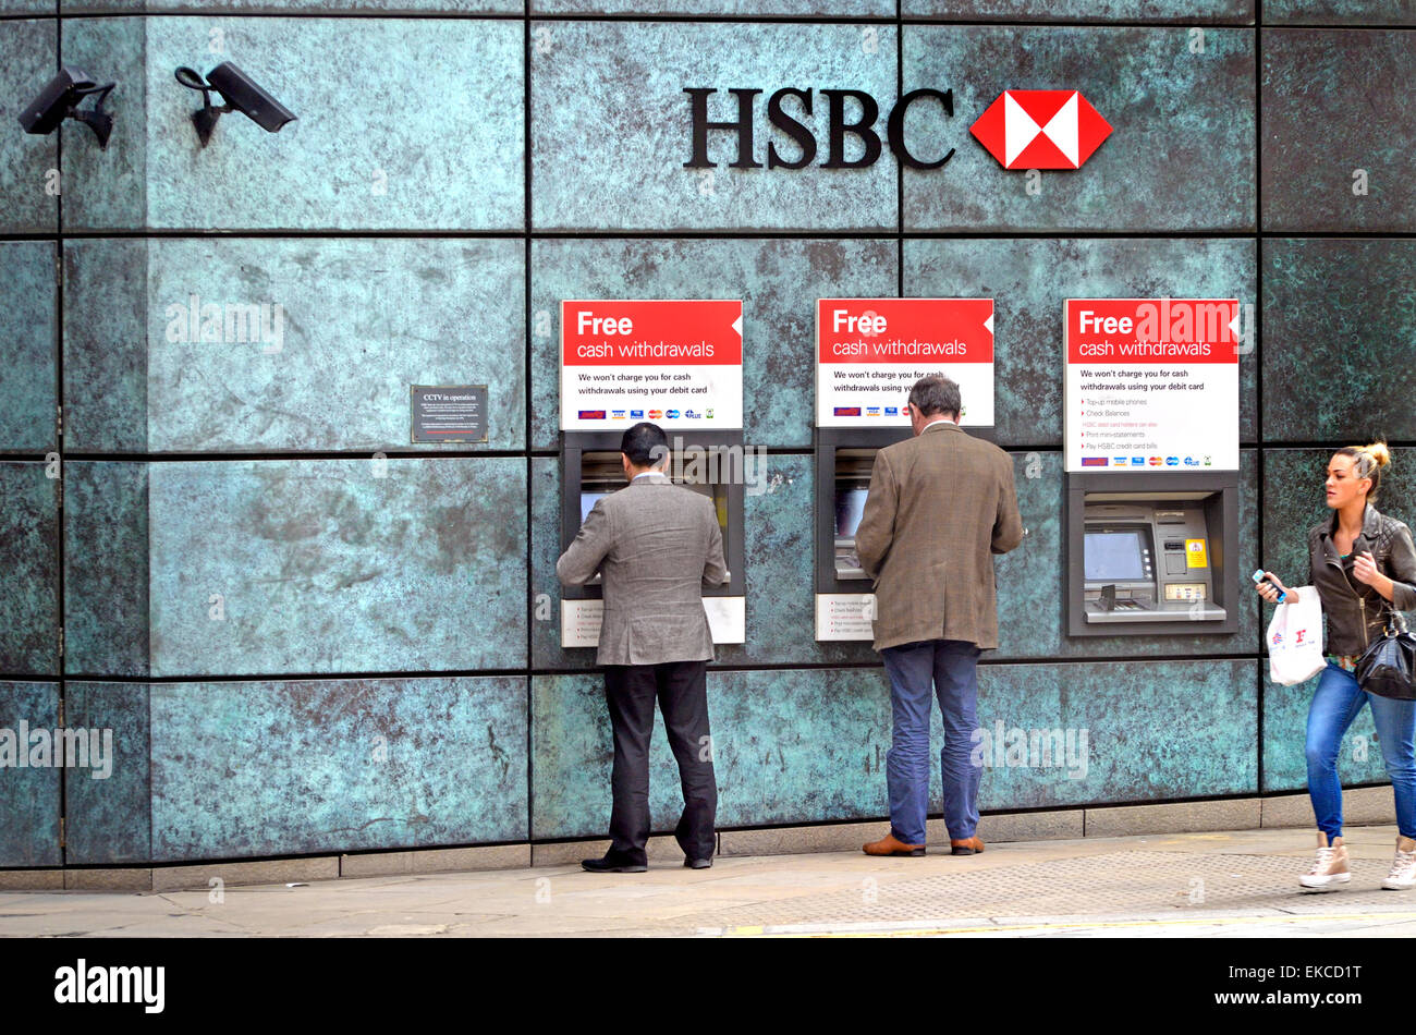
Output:
[[[1004,168],[1080,168],[1112,123],[1075,89],[1005,89],[969,132]]]

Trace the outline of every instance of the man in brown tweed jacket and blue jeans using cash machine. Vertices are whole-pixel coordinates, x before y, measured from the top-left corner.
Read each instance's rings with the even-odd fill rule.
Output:
[[[893,733],[885,756],[891,830],[867,855],[923,855],[929,811],[929,698],[944,719],[944,825],[954,855],[983,851],[977,663],[998,646],[993,555],[1022,542],[1012,460],[959,428],[959,385],[920,378],[909,392],[915,436],[875,454],[855,532],[875,579],[875,650],[891,681]]]

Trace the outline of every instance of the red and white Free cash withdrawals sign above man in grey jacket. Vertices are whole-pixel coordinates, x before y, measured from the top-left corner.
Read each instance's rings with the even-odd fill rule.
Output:
[[[742,428],[742,300],[561,303],[561,430]]]

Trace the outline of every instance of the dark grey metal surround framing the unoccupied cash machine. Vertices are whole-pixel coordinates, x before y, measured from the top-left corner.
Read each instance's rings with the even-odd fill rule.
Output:
[[[1199,504],[1206,527],[1206,552],[1209,561],[1209,586],[1212,596],[1208,603],[1222,609],[1223,616],[1191,617],[1188,609],[1184,617],[1158,622],[1086,620],[1086,578],[1083,569],[1086,504]],[[1180,510],[1177,507],[1175,510]],[[1119,518],[1120,525],[1127,518]],[[1066,590],[1066,634],[1068,636],[1194,636],[1225,634],[1239,630],[1239,473],[1238,471],[1155,471],[1120,474],[1110,471],[1070,471],[1066,476],[1066,522],[1063,525],[1063,586]],[[1164,539],[1151,542],[1153,583],[1157,593],[1161,586],[1161,558]]]

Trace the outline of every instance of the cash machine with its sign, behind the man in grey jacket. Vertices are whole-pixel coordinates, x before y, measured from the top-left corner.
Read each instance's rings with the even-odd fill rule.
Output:
[[[582,313],[593,313],[593,324]],[[728,582],[702,590],[714,643],[743,643],[742,303],[562,302],[561,337],[561,549],[596,501],[624,488],[624,432],[641,421],[658,425],[671,450],[666,473],[712,500],[718,514]],[[658,343],[660,351],[666,343],[685,343],[694,358],[646,362],[644,343]],[[698,355],[701,343],[714,345],[712,362]],[[622,347],[633,358],[617,360]],[[586,384],[596,394],[578,398],[576,388]],[[599,575],[561,589],[562,647],[595,647],[602,617]]]

